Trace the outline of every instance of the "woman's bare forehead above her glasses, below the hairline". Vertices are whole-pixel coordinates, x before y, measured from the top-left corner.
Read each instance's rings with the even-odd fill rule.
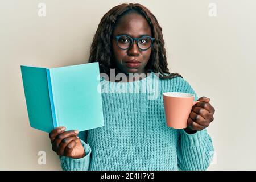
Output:
[[[151,35],[151,28],[147,20],[138,13],[128,13],[123,15],[114,28],[114,35],[127,34],[133,37],[141,35]]]

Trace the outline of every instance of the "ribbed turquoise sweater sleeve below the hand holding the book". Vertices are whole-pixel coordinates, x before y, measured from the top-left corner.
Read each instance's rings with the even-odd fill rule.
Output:
[[[90,154],[92,152],[89,144],[86,144],[86,131],[79,133],[80,141],[85,150],[84,158],[73,159],[60,156],[60,164],[63,171],[88,171],[90,167]]]

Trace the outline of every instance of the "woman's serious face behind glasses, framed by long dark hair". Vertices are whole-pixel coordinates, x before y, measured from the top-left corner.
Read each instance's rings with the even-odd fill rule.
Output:
[[[131,47],[123,50],[118,47],[115,36],[128,35],[131,38],[141,38],[141,36],[152,36],[151,28],[147,20],[138,13],[129,13],[122,16],[113,31],[113,52],[114,63],[117,72],[121,73],[146,73],[145,66],[150,59],[151,47],[146,51],[138,48],[134,41]],[[126,40],[122,40],[125,42]],[[138,63],[132,63],[137,61]],[[129,63],[130,62],[130,63]]]

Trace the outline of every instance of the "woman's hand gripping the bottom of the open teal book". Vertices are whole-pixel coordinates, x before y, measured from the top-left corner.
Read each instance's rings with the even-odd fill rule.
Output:
[[[49,133],[52,150],[60,156],[75,159],[83,158],[85,151],[77,134],[77,130],[65,131],[65,127],[63,126],[56,127]]]

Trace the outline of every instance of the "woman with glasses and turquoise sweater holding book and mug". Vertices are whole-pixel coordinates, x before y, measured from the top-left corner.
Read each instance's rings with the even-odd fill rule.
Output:
[[[214,150],[205,128],[213,121],[214,108],[207,97],[197,100],[179,74],[169,73],[162,28],[146,7],[122,4],[104,15],[91,46],[89,62],[94,61],[105,75],[101,78],[105,126],[82,131],[79,137],[76,130],[65,127],[52,130],[52,149],[60,155],[64,170],[208,168]],[[142,92],[148,83],[156,88],[153,98]],[[105,92],[116,88],[125,92]],[[130,92],[134,88],[139,92]],[[199,103],[192,107],[187,128],[166,126],[163,92],[195,95]]]

